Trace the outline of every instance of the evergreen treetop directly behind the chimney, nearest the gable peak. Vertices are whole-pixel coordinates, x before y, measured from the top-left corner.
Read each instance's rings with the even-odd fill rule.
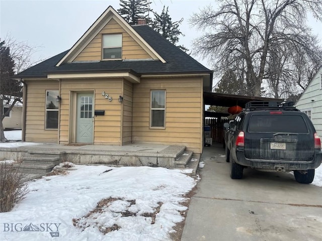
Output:
[[[130,25],[137,24],[138,19],[145,19],[148,24],[149,18],[149,0],[120,0],[121,8],[117,11]]]

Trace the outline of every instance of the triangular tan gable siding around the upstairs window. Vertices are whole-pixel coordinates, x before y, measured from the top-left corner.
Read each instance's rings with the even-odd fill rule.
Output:
[[[122,59],[151,59],[152,57],[114,20],[99,32],[97,36],[77,55],[73,61],[102,60],[102,35],[122,34]]]

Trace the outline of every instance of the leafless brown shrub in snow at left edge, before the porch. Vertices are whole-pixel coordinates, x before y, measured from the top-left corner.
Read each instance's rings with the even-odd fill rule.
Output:
[[[26,174],[12,164],[0,164],[0,212],[10,211],[15,203],[25,198],[28,184],[24,182]]]

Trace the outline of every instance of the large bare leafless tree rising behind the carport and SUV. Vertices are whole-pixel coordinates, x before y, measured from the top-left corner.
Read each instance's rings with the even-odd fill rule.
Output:
[[[306,25],[307,12],[321,21],[322,0],[220,1],[218,10],[209,6],[191,18],[191,25],[203,30],[203,36],[194,41],[194,52],[208,58],[217,74],[235,66],[244,76],[247,94],[260,96],[263,79],[279,80],[285,73],[270,74],[294,65],[288,56],[297,49],[310,61],[321,63],[317,38]],[[279,49],[284,49],[285,56],[280,55],[277,64],[274,57]],[[274,64],[269,67],[268,63]],[[281,82],[276,84],[281,87]]]

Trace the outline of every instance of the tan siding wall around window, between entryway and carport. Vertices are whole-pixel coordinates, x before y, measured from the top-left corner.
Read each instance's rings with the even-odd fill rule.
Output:
[[[166,128],[151,129],[150,90],[166,90]],[[133,88],[133,137],[136,142],[183,145],[202,152],[202,78],[141,79]]]

